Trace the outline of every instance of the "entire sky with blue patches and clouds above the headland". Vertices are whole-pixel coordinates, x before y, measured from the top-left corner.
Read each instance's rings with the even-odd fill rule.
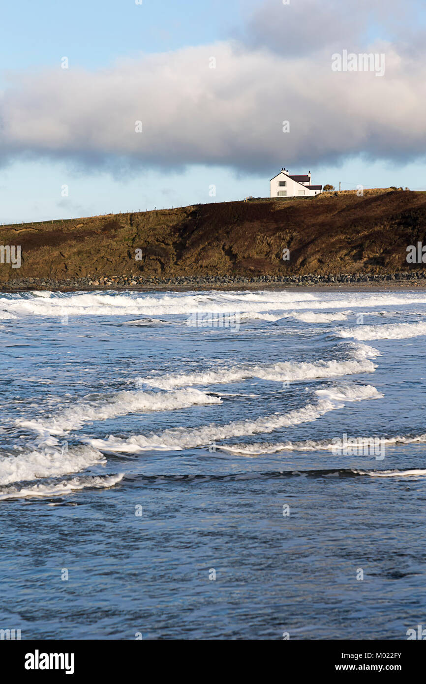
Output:
[[[269,196],[282,167],[342,189],[426,189],[425,10],[423,0],[8,3],[0,223]],[[382,62],[332,68],[343,51]]]

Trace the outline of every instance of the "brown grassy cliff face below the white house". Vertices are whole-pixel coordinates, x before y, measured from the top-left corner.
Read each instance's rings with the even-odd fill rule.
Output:
[[[394,273],[425,238],[426,194],[364,191],[0,226],[22,265],[0,281],[86,276]],[[282,250],[290,260],[282,261]],[[142,261],[135,250],[142,250]]]

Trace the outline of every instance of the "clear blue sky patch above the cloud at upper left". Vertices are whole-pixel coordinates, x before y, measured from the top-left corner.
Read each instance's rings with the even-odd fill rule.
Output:
[[[57,63],[58,55],[102,68],[139,52],[174,51],[238,29],[256,1],[240,0],[21,0],[1,9],[2,70]]]

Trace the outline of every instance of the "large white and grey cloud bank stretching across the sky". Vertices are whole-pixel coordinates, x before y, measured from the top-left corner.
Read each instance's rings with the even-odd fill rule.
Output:
[[[364,45],[359,51],[385,53],[384,77],[334,73],[334,38],[349,16],[338,9],[342,4],[332,3],[332,16],[330,6],[315,14],[312,0],[297,4],[286,29],[291,41],[281,51],[271,34],[280,35],[274,5],[263,23],[249,22],[245,43],[145,55],[98,72],[10,75],[0,95],[3,158],[51,156],[93,167],[202,163],[245,173],[360,153],[416,159],[426,149],[425,60],[396,44]],[[281,5],[280,12],[290,8]],[[338,36],[341,47],[358,51],[354,40],[366,21],[352,14],[354,23]],[[142,133],[135,133],[137,120]],[[290,133],[282,133],[283,120]]]

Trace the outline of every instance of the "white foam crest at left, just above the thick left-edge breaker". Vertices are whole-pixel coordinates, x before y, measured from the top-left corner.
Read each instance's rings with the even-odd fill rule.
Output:
[[[192,388],[168,393],[122,391],[106,401],[75,404],[49,418],[17,419],[16,425],[40,435],[64,435],[92,421],[105,421],[139,411],[170,411],[203,404],[222,404],[222,399]]]

